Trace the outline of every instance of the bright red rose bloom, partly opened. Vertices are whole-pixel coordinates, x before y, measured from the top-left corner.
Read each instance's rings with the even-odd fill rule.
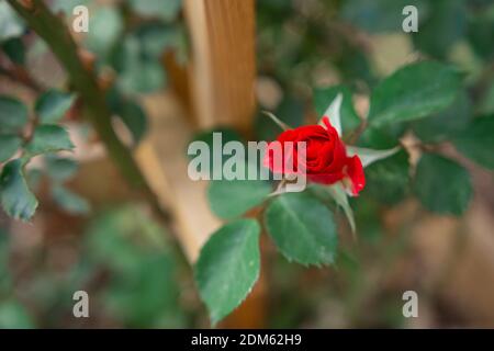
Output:
[[[268,146],[265,165],[273,173],[305,173],[307,179],[315,183],[334,184],[341,181],[353,195],[358,195],[366,185],[362,162],[358,156],[347,156],[345,144],[327,116],[323,117],[323,124],[301,126],[281,133],[277,141],[281,144],[282,165],[274,162],[273,152],[277,148],[273,143]],[[288,141],[292,141],[293,147],[285,149]],[[299,161],[297,141],[306,143],[305,161]]]

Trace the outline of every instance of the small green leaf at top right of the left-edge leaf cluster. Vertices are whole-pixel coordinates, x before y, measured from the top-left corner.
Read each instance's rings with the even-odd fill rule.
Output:
[[[75,99],[74,94],[48,90],[37,99],[34,110],[42,123],[56,123],[64,117]]]

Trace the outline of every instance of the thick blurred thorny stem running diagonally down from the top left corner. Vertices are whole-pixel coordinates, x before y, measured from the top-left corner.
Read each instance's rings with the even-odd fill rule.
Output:
[[[27,22],[30,27],[50,47],[61,66],[67,71],[75,90],[85,101],[89,113],[87,117],[98,132],[106,150],[130,185],[141,191],[164,222],[169,215],[162,210],[144,174],[113,131],[111,112],[104,101],[93,71],[85,65],[78,47],[60,18],[55,15],[42,0],[7,0],[10,5]]]

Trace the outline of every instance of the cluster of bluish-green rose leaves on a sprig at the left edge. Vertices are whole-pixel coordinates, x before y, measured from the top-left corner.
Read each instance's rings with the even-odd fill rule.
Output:
[[[74,148],[67,131],[55,124],[67,113],[74,100],[74,94],[48,90],[36,100],[36,118],[29,121],[27,106],[16,99],[0,97],[0,162],[8,161],[16,152],[21,154],[19,159],[4,165],[1,173],[1,204],[9,216],[29,220],[37,207],[24,171],[31,159]],[[77,168],[74,161],[47,156],[46,166],[54,181],[54,201],[71,213],[87,213],[87,202],[61,186]]]

